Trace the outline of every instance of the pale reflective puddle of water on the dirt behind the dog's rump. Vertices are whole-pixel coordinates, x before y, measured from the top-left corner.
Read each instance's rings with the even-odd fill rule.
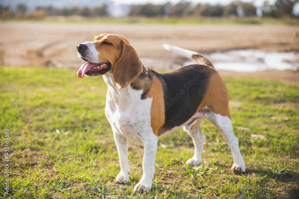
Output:
[[[262,70],[298,70],[295,53],[264,52],[258,50],[231,50],[223,54],[205,54],[216,70],[256,72]],[[185,64],[194,64],[186,62]]]

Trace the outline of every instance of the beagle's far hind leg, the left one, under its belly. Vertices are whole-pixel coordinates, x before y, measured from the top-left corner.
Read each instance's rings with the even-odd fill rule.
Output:
[[[195,118],[192,122],[183,127],[184,131],[191,136],[194,144],[194,155],[187,160],[186,164],[199,165],[202,163],[202,150],[205,142],[205,135],[200,129],[202,118]]]

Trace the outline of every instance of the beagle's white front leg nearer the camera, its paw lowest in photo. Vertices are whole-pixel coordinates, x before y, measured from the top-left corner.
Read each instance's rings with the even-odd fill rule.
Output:
[[[157,153],[158,137],[152,133],[148,138],[142,140],[144,144],[143,155],[143,174],[141,180],[135,185],[134,193],[136,191],[148,192],[152,187],[152,178],[155,172],[155,159]]]

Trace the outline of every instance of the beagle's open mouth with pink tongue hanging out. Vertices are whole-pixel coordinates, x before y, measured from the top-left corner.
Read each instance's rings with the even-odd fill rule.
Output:
[[[108,72],[111,69],[111,64],[110,63],[91,63],[87,62],[83,64],[79,70],[78,70],[78,77],[83,78],[84,75],[87,76],[98,76],[98,75],[103,75],[106,72]]]

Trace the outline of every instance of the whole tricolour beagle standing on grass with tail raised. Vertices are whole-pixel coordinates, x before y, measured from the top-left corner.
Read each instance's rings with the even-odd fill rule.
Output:
[[[195,152],[189,165],[202,163],[205,135],[202,118],[210,120],[228,142],[234,164],[232,172],[245,172],[228,107],[228,89],[213,64],[203,55],[179,47],[167,50],[195,59],[199,64],[157,73],[141,63],[130,42],[119,35],[100,34],[92,42],[77,45],[86,61],[78,77],[102,75],[108,86],[105,114],[118,150],[120,173],[115,181],[128,183],[131,171],[128,139],[144,144],[143,175],[134,187],[149,191],[155,172],[158,138],[183,127],[192,138]]]

